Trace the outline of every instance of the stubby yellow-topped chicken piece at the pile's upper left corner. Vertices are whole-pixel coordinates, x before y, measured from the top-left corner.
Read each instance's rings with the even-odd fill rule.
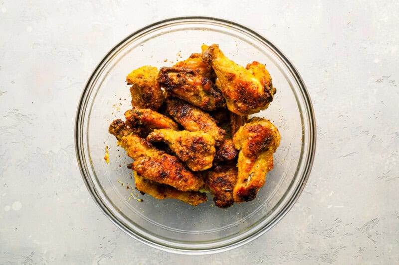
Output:
[[[130,88],[132,106],[157,110],[165,100],[165,94],[158,81],[158,69],[152,66],[143,66],[133,70],[126,81],[133,86]]]

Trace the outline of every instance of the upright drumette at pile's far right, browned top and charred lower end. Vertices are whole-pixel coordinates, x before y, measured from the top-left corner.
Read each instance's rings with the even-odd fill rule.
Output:
[[[234,201],[251,201],[273,169],[273,153],[280,144],[280,133],[270,121],[252,118],[234,134],[233,143],[240,150]]]

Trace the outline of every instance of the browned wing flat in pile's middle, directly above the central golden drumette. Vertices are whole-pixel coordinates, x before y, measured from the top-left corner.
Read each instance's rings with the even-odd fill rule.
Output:
[[[223,142],[226,132],[217,127],[215,120],[206,112],[178,98],[168,98],[166,109],[178,123],[190,132],[203,131],[215,139],[215,145]]]

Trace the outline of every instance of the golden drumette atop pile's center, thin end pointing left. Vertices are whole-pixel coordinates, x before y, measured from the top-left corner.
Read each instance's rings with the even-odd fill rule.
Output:
[[[148,135],[147,140],[165,141],[176,156],[192,171],[203,171],[212,167],[215,140],[207,133],[160,129]]]

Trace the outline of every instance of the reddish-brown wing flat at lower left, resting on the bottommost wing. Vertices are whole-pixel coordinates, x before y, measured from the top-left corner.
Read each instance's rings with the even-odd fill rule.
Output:
[[[177,157],[168,154],[138,158],[129,168],[147,179],[182,191],[198,191],[204,184],[200,174],[191,172]]]

